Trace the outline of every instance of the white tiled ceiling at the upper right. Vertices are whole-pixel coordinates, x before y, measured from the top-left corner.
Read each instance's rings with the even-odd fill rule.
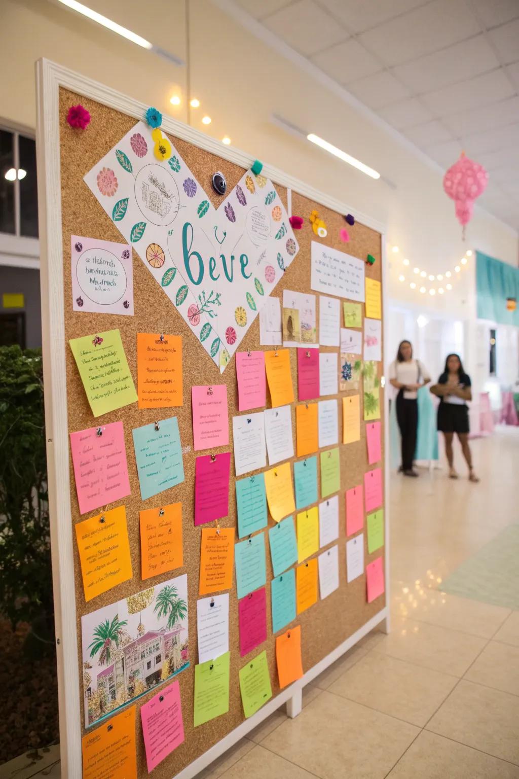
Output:
[[[519,0],[237,0],[519,231]]]

